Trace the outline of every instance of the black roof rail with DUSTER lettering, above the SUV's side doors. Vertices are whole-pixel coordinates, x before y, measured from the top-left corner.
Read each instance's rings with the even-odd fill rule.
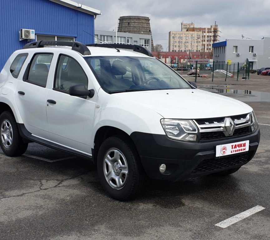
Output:
[[[23,49],[27,48],[37,48],[37,47],[44,47],[45,45],[58,45],[58,46],[69,46],[72,47],[71,49],[82,54],[82,55],[91,55],[88,47],[86,47],[81,42],[68,42],[68,41],[37,41],[37,42],[30,42],[27,43]]]

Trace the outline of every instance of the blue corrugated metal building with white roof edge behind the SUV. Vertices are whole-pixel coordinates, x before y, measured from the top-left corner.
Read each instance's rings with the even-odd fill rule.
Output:
[[[94,43],[99,10],[70,0],[0,0],[0,71],[9,56],[27,42],[65,40]],[[19,39],[20,29],[33,29],[35,39]]]

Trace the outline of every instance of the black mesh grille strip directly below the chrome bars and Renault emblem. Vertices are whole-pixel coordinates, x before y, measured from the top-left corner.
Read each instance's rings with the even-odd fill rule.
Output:
[[[225,136],[223,132],[205,132],[200,133],[199,141],[210,141],[216,139],[223,139],[223,138],[231,138],[231,137],[238,137],[243,136],[246,134],[252,133],[250,127],[238,128],[234,130],[234,134],[232,136]]]

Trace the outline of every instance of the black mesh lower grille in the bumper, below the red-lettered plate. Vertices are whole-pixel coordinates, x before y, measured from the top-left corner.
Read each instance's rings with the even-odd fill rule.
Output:
[[[251,154],[252,153],[244,153],[235,156],[228,156],[225,158],[206,159],[201,161],[200,164],[192,171],[191,174],[205,173],[233,167],[238,164],[245,164],[250,160]]]

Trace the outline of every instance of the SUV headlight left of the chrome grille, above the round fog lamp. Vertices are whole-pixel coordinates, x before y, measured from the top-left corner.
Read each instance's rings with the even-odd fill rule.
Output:
[[[198,139],[198,129],[192,120],[161,119],[160,122],[168,138],[188,142]]]

